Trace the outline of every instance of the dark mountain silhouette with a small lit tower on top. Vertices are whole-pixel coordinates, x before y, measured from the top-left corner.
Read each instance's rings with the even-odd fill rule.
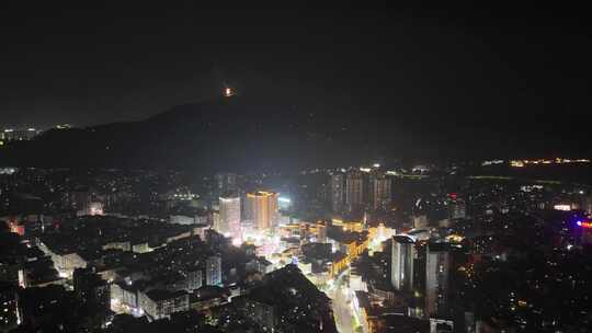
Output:
[[[141,122],[52,129],[0,149],[16,166],[280,170],[339,165],[386,147],[375,117],[323,105],[232,96],[174,106]],[[379,145],[379,142],[382,142]]]

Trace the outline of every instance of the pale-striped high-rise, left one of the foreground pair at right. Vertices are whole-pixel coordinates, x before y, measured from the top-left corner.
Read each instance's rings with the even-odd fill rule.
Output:
[[[391,251],[390,282],[392,287],[401,291],[412,291],[413,260],[415,259],[413,239],[407,236],[394,236]]]

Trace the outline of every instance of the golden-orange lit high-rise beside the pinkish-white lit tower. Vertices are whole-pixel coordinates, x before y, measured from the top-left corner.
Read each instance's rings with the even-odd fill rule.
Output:
[[[277,193],[254,192],[247,193],[247,218],[253,221],[259,230],[275,227],[277,222]]]

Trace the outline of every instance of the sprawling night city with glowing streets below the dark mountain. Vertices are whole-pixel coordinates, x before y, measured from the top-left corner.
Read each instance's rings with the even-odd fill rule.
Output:
[[[589,186],[409,170],[190,182],[177,171],[11,169],[0,174],[0,324],[503,332],[590,323]],[[562,311],[540,301],[548,290],[563,290],[554,294]]]

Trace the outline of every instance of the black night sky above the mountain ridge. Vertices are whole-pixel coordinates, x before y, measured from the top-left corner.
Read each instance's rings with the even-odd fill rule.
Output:
[[[4,126],[141,119],[219,94],[224,82],[467,139],[583,133],[592,104],[583,8],[46,2],[1,4]]]

